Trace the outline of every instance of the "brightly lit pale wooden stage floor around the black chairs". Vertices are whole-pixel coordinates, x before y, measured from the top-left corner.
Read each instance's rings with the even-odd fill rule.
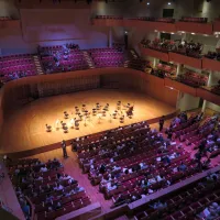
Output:
[[[80,122],[79,130],[69,129],[68,133],[64,133],[62,129],[58,131],[55,129],[57,119],[69,124],[70,119],[65,120],[63,112],[74,112],[75,116],[76,106],[81,107],[82,103],[86,103],[87,109],[91,110],[96,102],[102,106],[109,103],[111,113],[116,110],[119,100],[124,105],[128,102],[134,105],[133,118],[125,117],[123,124],[119,122],[119,119],[110,122],[110,116],[107,116],[101,119],[101,123],[98,123],[98,117],[91,117],[91,121],[87,122],[86,127],[84,122]],[[136,91],[97,89],[42,98],[25,105],[6,119],[0,134],[0,153],[32,150],[62,140],[70,140],[119,125],[157,118],[174,111],[175,108]],[[46,132],[46,123],[53,127],[52,132]]]

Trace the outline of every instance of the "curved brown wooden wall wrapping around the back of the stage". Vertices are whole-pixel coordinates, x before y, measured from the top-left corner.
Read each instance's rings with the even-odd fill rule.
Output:
[[[80,85],[85,85],[81,90],[88,90],[91,88],[87,86],[90,84],[86,79],[90,80],[91,78],[96,80],[98,87],[138,90],[176,107],[177,91],[165,87],[163,79],[152,77],[140,70],[116,67],[38,75],[9,81],[0,90],[0,128],[2,129],[4,119],[13,113],[13,111],[22,107],[22,105],[40,97],[38,87],[42,85],[46,84],[56,89],[57,85],[58,88],[66,88],[67,81],[75,84],[76,81],[80,81]]]

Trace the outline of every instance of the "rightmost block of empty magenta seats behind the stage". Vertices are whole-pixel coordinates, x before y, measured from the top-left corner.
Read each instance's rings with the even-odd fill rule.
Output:
[[[97,68],[123,66],[124,55],[118,48],[92,48],[88,51]]]

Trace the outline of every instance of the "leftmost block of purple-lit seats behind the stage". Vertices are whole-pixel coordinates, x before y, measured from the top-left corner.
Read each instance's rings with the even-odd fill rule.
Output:
[[[0,79],[2,82],[34,75],[36,75],[36,68],[31,54],[0,57]]]

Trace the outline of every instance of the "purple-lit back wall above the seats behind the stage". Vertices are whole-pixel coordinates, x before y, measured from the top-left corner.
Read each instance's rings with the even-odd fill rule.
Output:
[[[22,9],[21,28],[0,30],[2,55],[35,53],[37,45],[79,44],[81,48],[106,47],[108,28],[90,24],[88,9]]]

